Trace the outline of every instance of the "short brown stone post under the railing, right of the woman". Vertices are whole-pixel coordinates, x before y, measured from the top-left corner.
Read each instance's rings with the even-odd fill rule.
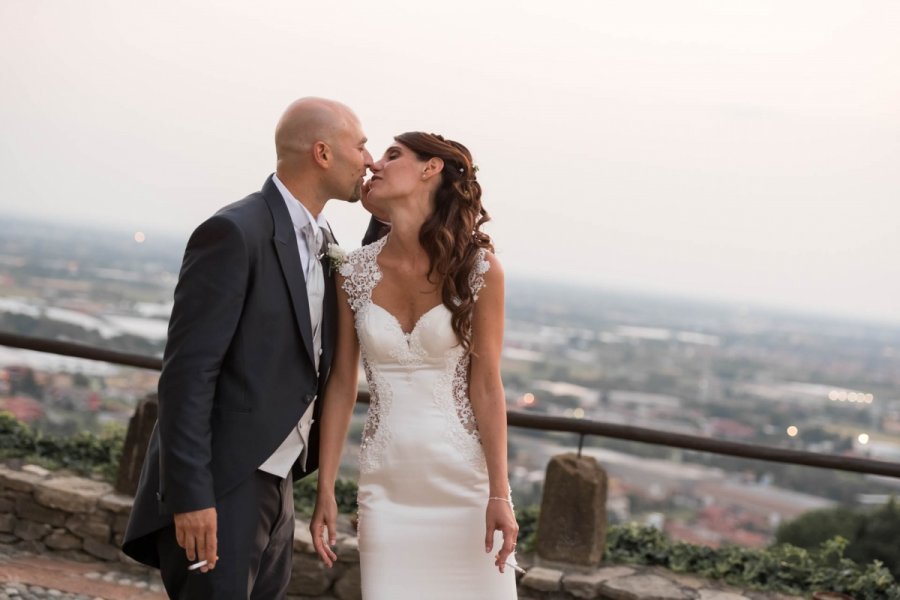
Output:
[[[606,471],[589,457],[550,459],[536,551],[547,561],[596,566],[606,546]]]

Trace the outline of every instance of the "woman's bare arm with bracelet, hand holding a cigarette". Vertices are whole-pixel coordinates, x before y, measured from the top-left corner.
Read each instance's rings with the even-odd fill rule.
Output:
[[[487,502],[485,550],[491,551],[494,531],[503,532],[503,547],[496,564],[502,572],[516,544],[519,527],[509,497],[506,457],[506,396],[500,378],[500,352],[503,347],[503,269],[488,253],[490,269],[479,293],[472,316],[472,363],[469,373],[469,399],[478,422],[478,433],[487,461],[490,499]]]

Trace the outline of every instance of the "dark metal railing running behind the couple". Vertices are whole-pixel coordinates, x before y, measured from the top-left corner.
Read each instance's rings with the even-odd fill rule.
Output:
[[[105,350],[75,342],[48,340],[0,332],[0,345],[74,358],[103,361],[122,366],[138,367],[141,369],[157,371],[162,369],[162,359],[157,357]],[[368,392],[360,391],[357,400],[360,402],[368,402]],[[507,411],[507,422],[513,427],[521,427],[524,429],[577,434],[579,436],[579,454],[584,445],[584,438],[589,435],[594,435],[646,444],[669,446],[673,448],[683,448],[686,450],[696,450],[699,452],[709,452],[712,454],[737,456],[747,459],[900,478],[900,463],[873,460],[869,458],[818,454],[816,452],[807,452],[805,450],[745,444],[742,442],[731,442],[695,435],[660,431],[657,429],[648,429],[645,427],[635,427],[632,425],[604,423],[602,421],[593,421],[590,419],[554,417],[518,410]]]

